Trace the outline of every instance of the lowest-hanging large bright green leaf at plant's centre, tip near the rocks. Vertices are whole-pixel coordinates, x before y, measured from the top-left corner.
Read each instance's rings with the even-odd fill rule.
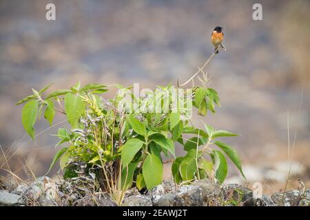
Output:
[[[149,154],[142,166],[145,185],[148,190],[154,188],[163,181],[163,164],[156,155]]]

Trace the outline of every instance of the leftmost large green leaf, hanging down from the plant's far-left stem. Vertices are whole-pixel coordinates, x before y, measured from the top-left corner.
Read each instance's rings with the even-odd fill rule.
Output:
[[[23,110],[21,111],[21,122],[23,123],[23,128],[30,135],[32,140],[34,140],[34,123],[37,120],[37,113],[39,107],[39,100],[30,100],[25,104]]]

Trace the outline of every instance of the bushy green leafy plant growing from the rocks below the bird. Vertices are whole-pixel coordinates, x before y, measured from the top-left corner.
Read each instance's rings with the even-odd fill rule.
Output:
[[[218,93],[207,87],[207,76],[203,76],[199,78],[200,87],[158,86],[156,91],[145,91],[143,96],[132,94],[132,87],[116,85],[118,92],[112,99],[101,96],[108,90],[97,83],[84,87],[77,83],[43,98],[48,85],[39,91],[32,89],[33,94],[17,104],[25,103],[22,122],[32,139],[34,124],[43,111],[50,126],[56,112],[66,115],[71,129],[59,129],[56,136],[60,141],[56,147],[67,146],[56,153],[48,171],[60,160],[64,177],[70,178],[72,166],[69,165],[86,162],[89,168],[96,168],[101,189],[121,203],[123,192],[133,184],[139,190],[161,184],[162,155],[174,159],[172,174],[176,183],[204,178],[222,183],[227,175],[225,155],[243,175],[234,148],[218,140],[237,135],[209,125],[199,129],[191,120],[192,106],[203,116],[207,111],[215,113],[216,105],[220,106]],[[185,156],[176,157],[177,145],[183,146]]]

